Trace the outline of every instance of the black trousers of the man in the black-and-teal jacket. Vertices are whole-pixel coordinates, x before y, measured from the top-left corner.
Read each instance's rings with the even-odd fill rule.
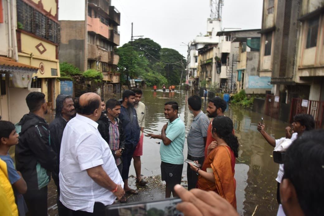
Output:
[[[40,190],[27,190],[23,195],[30,216],[47,216],[47,186]]]

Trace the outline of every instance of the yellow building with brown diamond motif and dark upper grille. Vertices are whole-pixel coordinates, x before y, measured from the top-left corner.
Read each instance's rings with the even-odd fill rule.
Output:
[[[60,94],[57,0],[16,0],[18,62],[39,68],[31,87],[45,94],[50,108]]]

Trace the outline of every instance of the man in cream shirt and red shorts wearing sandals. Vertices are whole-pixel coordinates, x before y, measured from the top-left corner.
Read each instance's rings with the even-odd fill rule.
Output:
[[[135,93],[135,102],[134,102],[134,108],[136,110],[137,114],[137,120],[138,125],[141,128],[140,132],[140,141],[138,142],[135,151],[133,153],[133,159],[134,159],[134,168],[136,173],[136,184],[140,186],[145,186],[147,184],[147,181],[144,181],[141,177],[141,156],[143,155],[143,131],[145,127],[145,104],[141,102],[143,92],[141,89],[134,89],[133,92]]]

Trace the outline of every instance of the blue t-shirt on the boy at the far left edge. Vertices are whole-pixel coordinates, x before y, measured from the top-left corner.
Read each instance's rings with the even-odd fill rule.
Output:
[[[19,176],[17,170],[15,169],[14,161],[11,159],[9,154],[0,155],[0,158],[7,164],[7,172],[8,172],[10,184],[12,185],[16,183],[21,177]],[[24,197],[22,196],[22,194],[18,193],[18,191],[15,188],[13,188],[13,190],[14,190],[19,216],[25,215],[27,212],[27,206]]]

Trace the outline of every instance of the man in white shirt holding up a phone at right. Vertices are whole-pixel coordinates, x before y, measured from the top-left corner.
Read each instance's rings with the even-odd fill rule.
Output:
[[[309,114],[297,114],[294,116],[293,123],[293,133],[290,134],[291,128],[288,126],[286,127],[286,137],[282,137],[280,139],[275,140],[272,136],[270,136],[267,132],[264,131],[264,124],[261,125],[259,122],[258,124],[258,131],[262,134],[264,139],[273,147],[277,147],[280,143],[282,143],[286,138],[290,139],[292,142],[297,139],[304,131],[310,131],[315,128],[315,120],[313,116]],[[281,204],[280,201],[280,183],[282,180],[282,177],[284,175],[284,165],[279,165],[279,171],[276,178],[277,183],[277,202],[278,204]]]

